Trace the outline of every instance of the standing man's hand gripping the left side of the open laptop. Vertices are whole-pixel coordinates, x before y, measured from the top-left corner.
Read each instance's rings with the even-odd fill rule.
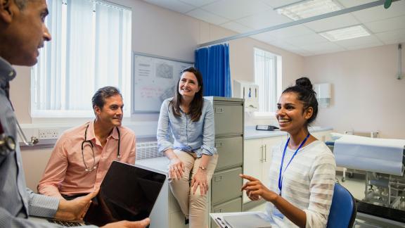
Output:
[[[61,199],[58,205],[58,211],[55,218],[58,220],[83,220],[86,215],[87,209],[91,204],[91,199],[98,193],[94,191],[86,196],[77,197],[74,200],[66,201]]]

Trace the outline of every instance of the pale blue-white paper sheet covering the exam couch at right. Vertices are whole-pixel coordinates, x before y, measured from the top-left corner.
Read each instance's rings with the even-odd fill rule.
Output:
[[[342,135],[335,140],[336,165],[354,170],[404,175],[404,139]]]

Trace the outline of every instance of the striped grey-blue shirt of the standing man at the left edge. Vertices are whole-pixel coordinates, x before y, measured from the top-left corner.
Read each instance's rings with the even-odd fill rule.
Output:
[[[36,224],[28,215],[54,217],[59,199],[34,194],[26,189],[17,120],[6,97],[6,84],[15,77],[15,70],[0,57],[0,122],[4,134],[15,139],[15,151],[0,151],[0,227],[56,227],[55,224]],[[1,148],[0,148],[1,150]]]

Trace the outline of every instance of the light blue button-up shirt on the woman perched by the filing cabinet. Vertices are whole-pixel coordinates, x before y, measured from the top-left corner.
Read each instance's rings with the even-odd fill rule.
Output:
[[[194,152],[198,158],[203,154],[212,156],[217,153],[214,147],[214,110],[212,103],[206,99],[200,120],[193,122],[191,115],[181,110],[181,117],[174,115],[170,99],[166,99],[160,108],[158,122],[158,148],[160,152],[169,148],[186,152]],[[174,143],[170,141],[169,129],[172,132]]]

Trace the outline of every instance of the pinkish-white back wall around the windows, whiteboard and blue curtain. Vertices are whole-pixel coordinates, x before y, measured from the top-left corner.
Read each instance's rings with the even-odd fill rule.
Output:
[[[168,11],[158,6],[153,6],[139,0],[110,0],[116,4],[132,9],[132,50],[149,53],[157,56],[194,61],[194,51],[198,44],[212,40],[229,37],[234,32],[225,30],[216,25],[205,23],[201,20]],[[240,39],[230,42],[230,67],[232,79],[253,80],[253,52],[254,46],[280,54],[285,61],[283,69],[285,79],[291,79],[302,72],[303,58],[288,51],[283,51],[274,46],[257,42],[254,39]],[[294,65],[289,67],[288,65]],[[32,120],[30,117],[30,68],[17,67],[18,76],[11,82],[11,101],[20,123],[44,122]],[[135,115],[133,122],[157,121],[158,114]],[[60,122],[62,120],[45,120],[46,122]],[[77,119],[77,125],[84,122]],[[70,121],[72,122],[72,121]],[[76,124],[75,123],[75,124]],[[136,134],[142,131],[135,129]],[[22,152],[27,186],[37,188],[37,182],[44,172],[51,149],[30,150],[25,148]],[[36,158],[32,163],[32,158]],[[30,160],[30,163],[27,161]],[[29,172],[27,172],[29,171]]]

